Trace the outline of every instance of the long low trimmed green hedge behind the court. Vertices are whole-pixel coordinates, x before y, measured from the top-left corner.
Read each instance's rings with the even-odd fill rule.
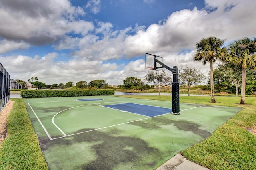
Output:
[[[22,98],[114,95],[114,90],[22,90]]]

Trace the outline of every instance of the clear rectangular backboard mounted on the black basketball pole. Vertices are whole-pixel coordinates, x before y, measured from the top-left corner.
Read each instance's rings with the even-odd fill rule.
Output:
[[[158,67],[162,67],[162,65],[155,62],[154,59],[157,59],[157,60],[163,62],[163,57],[159,57],[157,55],[145,53],[145,67],[146,67],[146,69],[163,71],[162,68],[158,68]]]

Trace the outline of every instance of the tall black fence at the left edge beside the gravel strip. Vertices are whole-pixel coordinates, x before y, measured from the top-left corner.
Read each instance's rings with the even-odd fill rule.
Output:
[[[10,100],[10,75],[0,63],[0,111]]]

